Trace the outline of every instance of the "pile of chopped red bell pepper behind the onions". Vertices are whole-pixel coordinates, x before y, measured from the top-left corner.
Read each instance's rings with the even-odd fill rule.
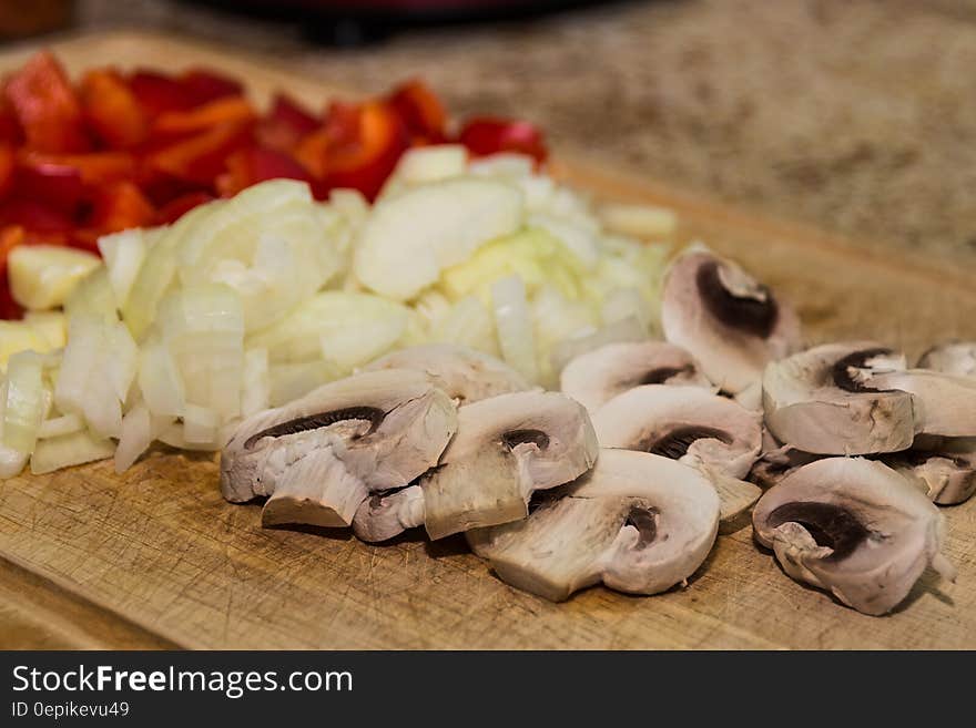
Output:
[[[96,253],[102,235],[169,224],[272,178],[301,180],[317,199],[338,187],[373,199],[406,150],[449,141],[479,155],[546,155],[523,122],[450,129],[417,81],[322,113],[279,94],[261,112],[240,82],[213,71],[106,68],[73,84],[39,53],[0,89],[0,274],[18,246]],[[0,318],[20,315],[14,299],[0,285]]]

